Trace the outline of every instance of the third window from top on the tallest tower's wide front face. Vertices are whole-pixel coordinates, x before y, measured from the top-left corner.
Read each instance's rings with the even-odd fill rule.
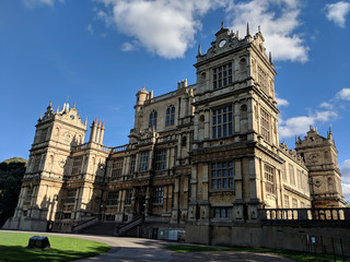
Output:
[[[213,163],[211,164],[211,188],[233,189],[233,163]]]

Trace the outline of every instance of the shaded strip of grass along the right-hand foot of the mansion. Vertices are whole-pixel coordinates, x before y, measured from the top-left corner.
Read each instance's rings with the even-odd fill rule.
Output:
[[[208,251],[236,251],[236,252],[256,252],[256,253],[275,253],[281,257],[298,261],[298,262],[314,262],[314,261],[335,261],[332,255],[314,255],[305,252],[280,250],[280,249],[268,249],[268,248],[220,248],[220,247],[207,247],[207,246],[191,246],[191,245],[168,245],[165,248],[174,252],[208,252]],[[349,258],[347,258],[349,259]],[[342,261],[339,255],[337,261]],[[348,261],[348,260],[346,260]]]

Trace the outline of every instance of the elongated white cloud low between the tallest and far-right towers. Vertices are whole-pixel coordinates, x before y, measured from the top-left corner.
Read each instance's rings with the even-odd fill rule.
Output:
[[[338,114],[331,110],[315,111],[310,116],[300,116],[283,120],[279,124],[280,139],[292,138],[305,133],[310,126],[317,122],[327,122],[337,118]]]

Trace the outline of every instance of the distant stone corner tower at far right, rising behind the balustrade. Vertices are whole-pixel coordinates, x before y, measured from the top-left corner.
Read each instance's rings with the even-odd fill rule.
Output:
[[[304,140],[296,140],[295,150],[304,158],[310,170],[313,207],[345,206],[338,151],[330,129],[327,138],[324,138],[318,134],[316,128],[310,127]]]

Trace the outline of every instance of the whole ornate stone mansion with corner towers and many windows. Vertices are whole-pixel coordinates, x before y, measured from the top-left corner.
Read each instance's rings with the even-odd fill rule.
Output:
[[[194,85],[137,93],[126,145],[104,145],[98,120],[85,143],[75,105],[50,104],[4,227],[72,231],[93,219],[116,228],[139,219],[147,236],[160,227],[203,236],[255,223],[261,209],[345,205],[330,130],[311,127],[295,151],[279,143],[276,71],[260,29],[238,37],[222,26],[207,52],[199,46],[195,68]]]

